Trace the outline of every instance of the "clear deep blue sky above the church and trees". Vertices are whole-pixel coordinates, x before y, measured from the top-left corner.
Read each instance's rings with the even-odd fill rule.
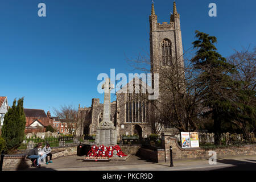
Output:
[[[47,17],[38,16],[46,3]],[[217,17],[208,5],[217,4]],[[155,0],[159,22],[170,21],[172,0]],[[216,36],[223,56],[255,46],[256,1],[176,0],[184,50],[195,30]],[[99,73],[130,73],[127,57],[149,52],[151,0],[1,0],[0,96],[24,96],[24,107],[90,106]],[[114,99],[114,98],[113,98]],[[52,113],[53,115],[53,113]]]

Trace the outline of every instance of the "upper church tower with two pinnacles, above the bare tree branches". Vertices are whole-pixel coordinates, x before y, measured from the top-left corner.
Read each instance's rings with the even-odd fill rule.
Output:
[[[159,68],[178,65],[184,68],[183,47],[180,30],[180,14],[174,2],[170,23],[158,23],[154,3],[150,15],[150,60],[151,73],[159,73]],[[160,75],[160,73],[159,73]]]

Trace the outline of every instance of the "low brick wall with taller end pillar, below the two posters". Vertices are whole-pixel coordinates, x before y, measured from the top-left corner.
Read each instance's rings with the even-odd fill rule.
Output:
[[[209,151],[215,151],[218,156],[232,155],[256,155],[256,145],[246,145],[241,147],[225,148],[181,148],[177,139],[171,135],[164,135],[164,148],[166,161],[170,160],[170,146],[172,146],[173,159],[209,159]]]

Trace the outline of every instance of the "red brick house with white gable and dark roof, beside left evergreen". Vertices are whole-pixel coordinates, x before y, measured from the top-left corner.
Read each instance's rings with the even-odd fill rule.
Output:
[[[26,115],[25,133],[45,132],[46,126],[53,126],[53,119],[51,115],[48,115],[48,112],[46,115],[42,109],[24,109]]]

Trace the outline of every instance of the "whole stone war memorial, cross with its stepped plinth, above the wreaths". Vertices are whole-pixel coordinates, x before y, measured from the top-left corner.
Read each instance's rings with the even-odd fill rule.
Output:
[[[117,144],[117,136],[114,123],[110,121],[110,90],[113,89],[113,85],[110,84],[109,78],[105,79],[102,89],[104,89],[103,119],[97,127],[95,144],[114,146]]]

